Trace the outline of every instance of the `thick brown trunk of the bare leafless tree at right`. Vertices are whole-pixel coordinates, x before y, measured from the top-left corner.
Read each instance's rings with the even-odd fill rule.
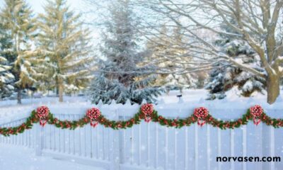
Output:
[[[280,77],[277,75],[269,75],[267,77],[267,103],[275,103],[280,94]]]

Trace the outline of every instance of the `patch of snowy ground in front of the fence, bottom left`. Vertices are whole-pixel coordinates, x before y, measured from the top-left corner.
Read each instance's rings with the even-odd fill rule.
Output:
[[[93,166],[62,161],[50,157],[37,157],[33,149],[0,144],[1,170],[103,170]]]

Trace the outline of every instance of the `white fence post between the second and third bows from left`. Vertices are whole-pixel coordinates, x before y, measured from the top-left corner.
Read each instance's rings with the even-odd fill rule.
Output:
[[[115,109],[115,120],[119,120],[119,108]],[[110,149],[111,157],[111,170],[120,170],[120,130],[111,130],[112,132],[112,149]]]

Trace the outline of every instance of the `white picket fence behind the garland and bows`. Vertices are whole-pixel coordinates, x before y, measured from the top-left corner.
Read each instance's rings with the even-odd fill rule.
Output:
[[[67,103],[47,105],[55,117],[78,120],[91,104]],[[205,106],[215,118],[240,118],[252,104],[238,108],[217,107],[205,103],[171,103],[154,106],[167,118],[185,118],[193,109]],[[220,105],[221,106],[221,105]],[[246,107],[247,106],[247,107]],[[127,120],[137,113],[139,105],[96,106],[106,118]],[[26,106],[21,116],[1,118],[0,126],[20,125],[36,106]],[[263,108],[265,108],[263,106]],[[282,108],[270,106],[267,115],[282,118]],[[13,114],[13,113],[11,113]],[[200,128],[197,123],[181,129],[166,128],[158,123],[142,123],[127,130],[112,130],[87,125],[76,130],[62,130],[53,125],[40,125],[23,134],[0,137],[0,143],[23,145],[35,149],[37,155],[75,160],[105,169],[282,169],[282,162],[216,162],[216,157],[282,157],[283,130],[265,124],[248,123],[235,130],[220,130],[210,125]]]

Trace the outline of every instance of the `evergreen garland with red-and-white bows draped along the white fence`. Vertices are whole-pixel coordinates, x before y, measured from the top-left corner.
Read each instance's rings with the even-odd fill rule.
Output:
[[[202,127],[204,123],[207,123],[209,125],[212,125],[213,127],[225,130],[240,128],[241,125],[247,125],[249,120],[253,120],[253,123],[255,125],[258,125],[260,121],[262,121],[262,123],[265,123],[266,125],[272,125],[274,128],[283,127],[283,119],[270,118],[264,113],[262,107],[259,105],[250,107],[248,111],[242,116],[242,118],[238,118],[238,120],[224,121],[213,118],[212,115],[209,114],[207,108],[204,107],[195,108],[194,113],[187,118],[168,119],[164,118],[162,115],[158,115],[158,112],[154,110],[154,106],[152,104],[146,103],[141,106],[141,108],[133,116],[133,118],[125,121],[108,120],[108,118],[105,118],[100,113],[98,108],[88,109],[86,115],[84,115],[83,118],[79,120],[59,120],[58,118],[54,118],[53,114],[50,113],[50,110],[46,106],[41,106],[32,111],[30,117],[25,120],[25,123],[22,123],[21,125],[18,125],[16,127],[0,128],[0,134],[4,136],[18,135],[19,133],[23,133],[25,130],[33,128],[34,123],[40,123],[42,127],[44,127],[46,124],[49,124],[54,125],[57,128],[69,130],[74,130],[76,128],[83,127],[88,123],[91,123],[91,126],[93,128],[95,128],[96,125],[100,124],[104,125],[105,128],[118,130],[132,128],[133,125],[139,124],[141,120],[145,120],[147,123],[152,121],[159,123],[160,125],[173,128],[182,128],[183,126],[190,126],[194,123],[197,123],[198,125],[200,125],[200,127]]]

